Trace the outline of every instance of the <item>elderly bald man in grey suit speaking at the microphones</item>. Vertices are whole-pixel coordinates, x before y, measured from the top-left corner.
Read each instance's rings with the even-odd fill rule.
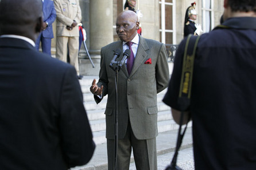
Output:
[[[138,35],[138,16],[133,11],[120,13],[116,25],[121,41],[101,49],[99,82],[96,84],[93,80],[90,88],[97,103],[108,94],[105,111],[108,169],[114,167],[116,75],[109,65],[114,52],[117,49],[124,52],[130,48],[126,43],[132,42],[129,58],[134,60],[134,64],[130,66],[128,58],[127,66],[124,65],[118,74],[117,169],[129,169],[133,148],[137,169],[156,170],[157,93],[164,90],[169,81],[165,45]]]

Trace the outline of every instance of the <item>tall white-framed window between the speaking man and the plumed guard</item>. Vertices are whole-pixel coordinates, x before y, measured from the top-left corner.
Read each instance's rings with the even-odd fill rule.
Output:
[[[159,0],[160,42],[176,44],[176,0]]]

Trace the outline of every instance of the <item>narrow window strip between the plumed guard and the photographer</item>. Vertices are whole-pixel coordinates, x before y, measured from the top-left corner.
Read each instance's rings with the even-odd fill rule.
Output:
[[[202,0],[202,11],[203,11],[203,23],[202,29],[204,33],[207,33],[214,29],[214,1],[213,0]]]

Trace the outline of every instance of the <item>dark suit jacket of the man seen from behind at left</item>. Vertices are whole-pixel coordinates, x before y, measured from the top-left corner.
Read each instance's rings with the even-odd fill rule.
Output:
[[[86,164],[94,142],[76,70],[16,38],[0,38],[1,169]]]

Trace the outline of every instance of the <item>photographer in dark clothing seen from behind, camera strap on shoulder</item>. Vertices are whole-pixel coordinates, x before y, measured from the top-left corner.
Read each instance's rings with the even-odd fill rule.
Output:
[[[224,0],[223,23],[200,36],[190,105],[195,169],[256,168],[256,1]],[[179,88],[185,38],[164,102],[180,122]]]

